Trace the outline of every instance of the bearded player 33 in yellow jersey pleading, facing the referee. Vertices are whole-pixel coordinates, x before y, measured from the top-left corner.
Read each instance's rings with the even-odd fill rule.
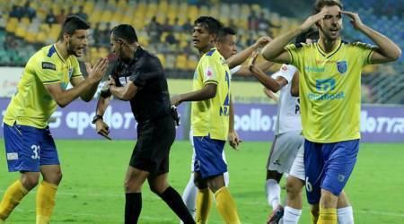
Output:
[[[21,177],[4,193],[0,223],[38,185],[40,174],[43,181],[37,191],[36,223],[49,223],[62,172],[48,119],[57,106],[64,108],[78,97],[91,100],[108,65],[107,59],[93,68],[86,65],[89,76],[83,79],[77,57],[87,46],[89,28],[80,17],[67,17],[57,43],[42,47],[25,65],[4,115],[8,170],[20,172]],[[69,82],[74,88],[66,90]]]

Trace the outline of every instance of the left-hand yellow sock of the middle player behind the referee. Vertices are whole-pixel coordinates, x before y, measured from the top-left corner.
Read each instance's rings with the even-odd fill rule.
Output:
[[[198,224],[206,224],[209,211],[212,208],[213,196],[208,187],[198,190],[197,194],[197,215],[196,222]]]

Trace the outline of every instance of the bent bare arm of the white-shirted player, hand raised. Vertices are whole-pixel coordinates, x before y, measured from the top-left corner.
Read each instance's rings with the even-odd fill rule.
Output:
[[[277,92],[278,90],[282,89],[287,84],[287,81],[283,77],[277,77],[277,79],[273,79],[272,77],[268,76],[266,73],[262,72],[256,65],[255,61],[258,54],[254,54],[254,56],[250,59],[249,62],[249,69],[252,75],[261,82],[266,88],[273,92]]]

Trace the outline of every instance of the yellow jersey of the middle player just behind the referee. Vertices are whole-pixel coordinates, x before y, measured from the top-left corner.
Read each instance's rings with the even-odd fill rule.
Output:
[[[208,83],[217,84],[212,99],[193,101],[191,125],[194,136],[210,135],[216,140],[227,140],[230,113],[230,70],[224,57],[212,48],[198,63],[192,89],[201,90]]]

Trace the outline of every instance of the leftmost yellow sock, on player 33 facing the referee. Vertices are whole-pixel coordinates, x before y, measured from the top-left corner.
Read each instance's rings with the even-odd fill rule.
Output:
[[[28,190],[25,189],[20,180],[10,185],[5,191],[3,200],[0,203],[0,220],[7,219],[15,206],[21,202],[26,194],[28,194]]]

